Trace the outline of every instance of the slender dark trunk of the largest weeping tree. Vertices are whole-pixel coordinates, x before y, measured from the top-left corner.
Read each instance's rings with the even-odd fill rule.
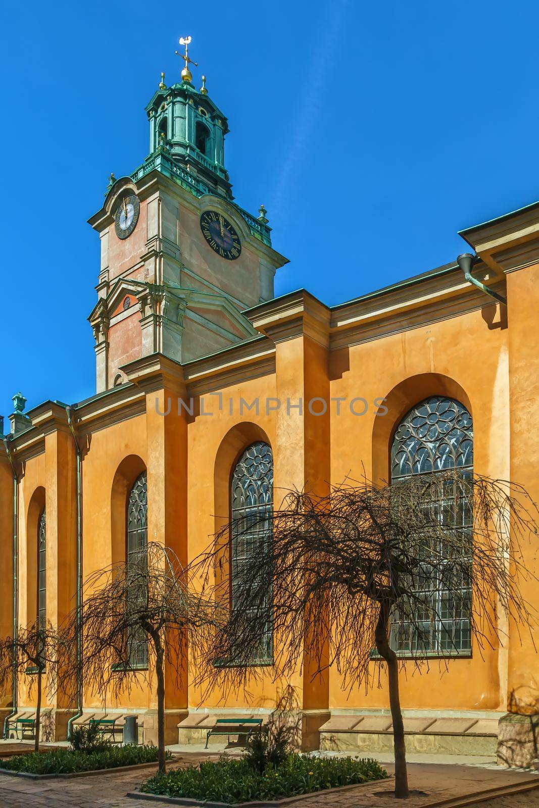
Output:
[[[387,664],[390,684],[390,709],[393,719],[393,741],[395,756],[395,797],[409,796],[408,772],[406,770],[406,745],[404,743],[404,725],[402,723],[401,703],[398,696],[398,659],[397,654],[390,648],[390,604],[380,604],[375,638],[378,654]]]

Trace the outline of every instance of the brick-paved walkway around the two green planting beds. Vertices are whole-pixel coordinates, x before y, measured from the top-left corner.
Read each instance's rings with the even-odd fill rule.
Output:
[[[217,752],[218,754],[218,752]],[[210,755],[215,758],[216,751]],[[200,752],[182,752],[179,765],[196,763],[203,755]],[[470,759],[471,760],[471,759]],[[388,772],[393,766],[385,764]],[[155,771],[154,764],[138,769],[137,772],[112,772],[107,775],[77,777],[72,780],[30,781],[22,777],[0,775],[0,808],[26,808],[26,806],[46,806],[46,808],[163,808],[158,801],[137,802],[126,797],[141,781]],[[409,781],[411,789],[426,792],[426,796],[411,797],[406,806],[421,808],[436,800],[457,797],[482,789],[498,788],[516,784],[537,777],[537,789],[517,794],[513,797],[499,797],[482,802],[488,808],[539,808],[539,775],[531,772],[507,771],[492,764],[440,764],[410,763]],[[340,793],[320,792],[297,803],[298,808],[372,808],[372,806],[394,805],[393,797],[387,794],[392,781],[347,789]]]

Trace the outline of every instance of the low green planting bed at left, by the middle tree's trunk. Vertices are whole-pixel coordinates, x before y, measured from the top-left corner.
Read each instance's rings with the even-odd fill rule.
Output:
[[[172,757],[167,752],[167,757]],[[53,749],[41,754],[16,755],[2,760],[2,768],[10,768],[14,772],[31,772],[32,774],[70,774],[71,772],[93,772],[99,768],[116,768],[133,766],[141,763],[156,763],[158,748],[152,744],[137,747],[126,744],[124,747],[110,745],[105,751],[75,751],[74,749]]]

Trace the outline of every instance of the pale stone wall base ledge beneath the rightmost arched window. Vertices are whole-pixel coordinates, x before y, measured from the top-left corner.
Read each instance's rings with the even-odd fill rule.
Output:
[[[489,735],[406,733],[406,751],[423,755],[495,755],[497,739]],[[392,752],[393,734],[381,732],[321,732],[325,751]]]

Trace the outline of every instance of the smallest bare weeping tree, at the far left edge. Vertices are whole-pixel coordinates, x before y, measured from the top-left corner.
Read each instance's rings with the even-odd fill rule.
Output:
[[[20,674],[26,674],[29,684],[28,692],[32,694],[36,686],[36,734],[34,749],[40,749],[41,701],[43,696],[43,675],[45,690],[48,696],[57,692],[58,659],[61,656],[61,633],[50,622],[36,620],[28,628],[19,627],[13,637],[0,641],[0,690],[3,690],[13,678],[19,680]]]

